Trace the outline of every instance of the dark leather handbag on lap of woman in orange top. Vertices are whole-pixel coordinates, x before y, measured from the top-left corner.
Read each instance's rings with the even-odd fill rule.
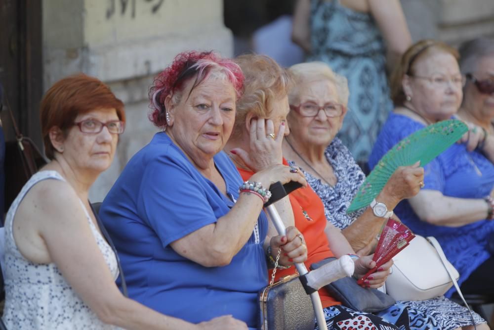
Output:
[[[311,269],[317,269],[336,258],[327,258],[311,265]],[[336,300],[341,301],[345,307],[355,311],[374,313],[382,311],[396,303],[391,296],[377,289],[364,288],[357,284],[357,280],[345,277],[329,283],[325,286],[328,292]]]

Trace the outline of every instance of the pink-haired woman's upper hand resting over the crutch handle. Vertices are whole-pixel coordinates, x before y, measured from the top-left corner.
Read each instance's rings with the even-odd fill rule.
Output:
[[[283,164],[272,165],[267,169],[257,172],[250,177],[249,181],[260,182],[265,189],[269,189],[272,184],[278,181],[282,184],[296,181],[304,187],[308,185],[304,174],[298,167]]]

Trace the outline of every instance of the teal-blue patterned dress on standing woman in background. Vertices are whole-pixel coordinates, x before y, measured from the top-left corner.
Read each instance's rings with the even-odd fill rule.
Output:
[[[311,0],[312,54],[348,79],[348,113],[338,137],[359,162],[393,109],[386,78],[386,49],[371,14],[342,6],[338,0]]]

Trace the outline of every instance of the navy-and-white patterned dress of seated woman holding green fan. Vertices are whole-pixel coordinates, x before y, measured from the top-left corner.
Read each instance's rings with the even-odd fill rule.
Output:
[[[338,138],[334,138],[329,144],[325,155],[337,179],[335,186],[328,186],[304,171],[300,164],[297,165],[304,172],[309,185],[323,201],[328,221],[335,227],[344,229],[365,211],[360,209],[350,214],[346,213],[366,176],[348,148]],[[412,330],[453,330],[472,324],[468,310],[444,296],[425,301],[399,301],[377,313],[379,317],[393,324],[399,323],[399,319],[406,317],[407,314]],[[473,314],[475,324],[485,323],[478,314]]]

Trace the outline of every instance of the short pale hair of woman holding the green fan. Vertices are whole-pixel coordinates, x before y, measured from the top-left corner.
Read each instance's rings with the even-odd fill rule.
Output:
[[[324,62],[307,62],[299,63],[290,66],[288,69],[293,74],[295,79],[295,88],[293,88],[289,95],[288,101],[290,104],[295,102],[295,97],[298,96],[298,85],[303,81],[313,81],[316,79],[329,80],[336,87],[336,93],[338,94],[339,101],[344,105],[348,105],[348,96],[350,91],[348,90],[348,81],[345,77],[335,73],[328,64]]]

